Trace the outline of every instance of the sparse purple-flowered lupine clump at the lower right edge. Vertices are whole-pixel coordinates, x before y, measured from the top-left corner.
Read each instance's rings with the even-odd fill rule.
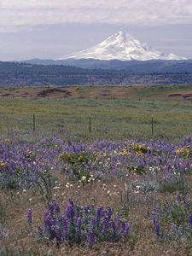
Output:
[[[155,207],[152,218],[154,231],[163,241],[179,240],[192,245],[192,199],[179,195]]]

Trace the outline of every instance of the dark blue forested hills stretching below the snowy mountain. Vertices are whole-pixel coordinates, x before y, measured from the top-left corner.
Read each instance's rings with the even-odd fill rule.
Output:
[[[192,84],[192,60],[99,61],[97,64],[101,66],[101,63],[102,65],[113,63],[113,67],[119,67],[123,63],[126,66],[125,68],[85,69],[64,65],[34,65],[26,62],[0,61],[0,86]]]

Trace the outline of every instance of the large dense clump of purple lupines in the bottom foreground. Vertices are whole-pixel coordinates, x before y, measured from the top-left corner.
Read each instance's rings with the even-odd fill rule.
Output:
[[[30,225],[31,213],[31,209],[27,211]],[[44,224],[38,226],[38,238],[40,241],[56,240],[57,243],[86,243],[92,246],[99,241],[123,240],[129,230],[130,224],[122,221],[118,213],[113,216],[111,207],[78,206],[69,200],[65,212],[61,212],[59,204],[52,201],[44,211]]]

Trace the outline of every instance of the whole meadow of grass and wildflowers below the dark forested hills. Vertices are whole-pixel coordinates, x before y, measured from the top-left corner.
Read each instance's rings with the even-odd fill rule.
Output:
[[[0,255],[192,255],[192,85],[2,88],[0,131]]]

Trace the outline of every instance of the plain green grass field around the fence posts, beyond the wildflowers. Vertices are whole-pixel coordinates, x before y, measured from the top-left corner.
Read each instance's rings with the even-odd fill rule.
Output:
[[[77,141],[151,137],[153,115],[154,137],[175,139],[189,135],[192,131],[192,102],[183,100],[181,96],[169,95],[181,90],[187,93],[191,89],[190,85],[82,86],[78,90],[81,97],[1,97],[0,131],[6,137],[11,136],[13,131],[26,131],[27,139],[55,134]],[[22,90],[32,91],[37,88]],[[101,96],[98,90],[107,93]],[[120,90],[120,95],[117,90]],[[35,133],[32,132],[33,112]]]

